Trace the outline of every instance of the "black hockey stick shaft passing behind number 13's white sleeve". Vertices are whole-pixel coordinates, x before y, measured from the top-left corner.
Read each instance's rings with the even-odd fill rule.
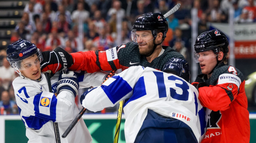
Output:
[[[112,77],[114,75],[114,73],[117,70],[112,70],[104,79],[104,81],[102,82],[102,84],[110,77]],[[61,136],[62,138],[66,138],[68,133],[74,128],[74,126],[76,125],[76,123],[79,121],[79,119],[83,116],[84,112],[86,111],[86,108],[83,108],[76,116],[76,118],[72,121],[72,123],[68,126],[67,130],[63,133],[63,135]]]

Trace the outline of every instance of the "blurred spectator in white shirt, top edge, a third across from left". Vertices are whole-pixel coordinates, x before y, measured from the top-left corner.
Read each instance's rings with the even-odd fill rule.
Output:
[[[84,9],[84,4],[82,2],[77,3],[77,10],[72,12],[71,19],[74,23],[78,23],[78,20],[84,22],[89,18],[89,11]]]

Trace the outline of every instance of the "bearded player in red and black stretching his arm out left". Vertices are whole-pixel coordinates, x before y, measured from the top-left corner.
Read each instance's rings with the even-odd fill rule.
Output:
[[[146,13],[136,19],[132,29],[132,42],[122,44],[106,51],[86,51],[55,55],[50,51],[43,52],[42,71],[55,73],[68,67],[71,70],[83,70],[89,73],[126,69],[134,65],[161,70],[171,58],[184,58],[169,46],[162,46],[168,30],[167,21],[161,13]],[[63,60],[64,59],[64,60]],[[48,66],[47,66],[48,65]],[[71,66],[72,65],[72,66]]]

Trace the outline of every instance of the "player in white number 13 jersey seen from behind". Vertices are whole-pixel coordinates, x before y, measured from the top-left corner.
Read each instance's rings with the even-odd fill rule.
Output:
[[[205,113],[198,91],[188,83],[187,61],[172,58],[163,71],[129,67],[101,86],[84,92],[80,102],[96,112],[125,100],[127,143],[200,142],[205,132]]]

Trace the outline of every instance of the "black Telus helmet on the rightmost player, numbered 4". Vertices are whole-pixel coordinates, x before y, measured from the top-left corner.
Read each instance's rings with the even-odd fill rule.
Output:
[[[220,47],[223,47],[223,53],[228,53],[228,39],[227,36],[220,30],[206,31],[200,34],[194,45],[195,52],[203,52],[213,50],[215,54],[220,52]]]

